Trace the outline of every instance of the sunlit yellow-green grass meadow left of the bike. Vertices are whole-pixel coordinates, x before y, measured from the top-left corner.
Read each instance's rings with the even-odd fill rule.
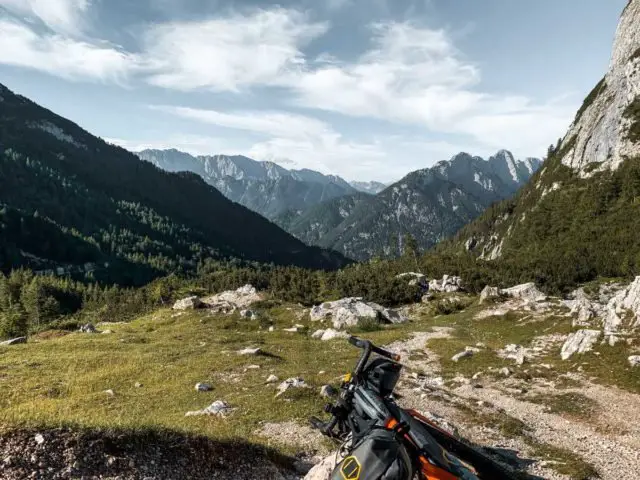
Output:
[[[299,307],[267,307],[263,318],[276,327],[274,332],[262,320],[212,316],[206,310],[174,317],[161,310],[109,325],[105,328],[114,333],[108,335],[53,332],[26,345],[0,347],[0,426],[166,429],[264,443],[253,434],[261,422],[304,424],[310,415],[321,414],[326,400],[320,387],[351,371],[359,354],[344,340],[311,339],[307,329],[322,324],[308,316],[301,319]],[[307,329],[282,331],[298,323]],[[384,345],[429,326],[425,320],[363,336]],[[246,347],[260,347],[265,355],[236,353]],[[247,369],[250,365],[261,368]],[[276,386],[264,383],[271,374],[281,380],[300,376],[311,388],[274,398]],[[198,382],[210,383],[213,391],[196,392]],[[136,383],[143,386],[136,388]],[[237,410],[225,419],[185,418],[187,411],[218,399]]]

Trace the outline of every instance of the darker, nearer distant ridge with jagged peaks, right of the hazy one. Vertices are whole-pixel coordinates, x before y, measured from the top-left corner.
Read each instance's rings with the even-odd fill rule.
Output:
[[[428,249],[455,234],[492,203],[509,198],[541,166],[500,150],[488,160],[460,153],[418,170],[375,196],[358,193],[281,215],[276,223],[305,243],[357,260],[397,256],[403,237]]]

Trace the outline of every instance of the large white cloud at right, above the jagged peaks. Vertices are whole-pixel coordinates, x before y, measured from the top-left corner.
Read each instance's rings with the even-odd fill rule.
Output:
[[[479,69],[443,30],[388,23],[372,32],[373,47],[357,61],[327,63],[320,56],[312,67],[283,77],[295,103],[470,135],[529,155],[541,154],[568,124],[566,106],[482,92]]]

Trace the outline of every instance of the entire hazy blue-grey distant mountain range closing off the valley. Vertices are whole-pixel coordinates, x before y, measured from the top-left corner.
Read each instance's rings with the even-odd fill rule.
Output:
[[[338,176],[287,170],[244,156],[196,157],[177,150],[137,155],[167,171],[196,173],[305,243],[356,260],[399,254],[406,234],[423,249],[433,246],[491,203],[512,196],[541,163],[515,160],[506,150],[488,160],[461,153],[387,187],[349,184]]]

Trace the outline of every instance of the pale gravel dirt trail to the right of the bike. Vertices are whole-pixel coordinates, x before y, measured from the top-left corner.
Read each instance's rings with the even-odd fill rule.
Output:
[[[425,351],[421,342],[442,338],[443,334],[441,329],[416,334],[411,340],[396,342],[388,348],[405,355],[415,355]],[[440,365],[433,355],[417,365],[415,362],[408,363],[411,367],[423,368],[428,376],[435,376],[440,371]],[[483,388],[477,388],[478,385],[474,386],[473,383],[456,388],[425,388],[409,373],[403,378],[398,393],[405,406],[443,416],[458,426],[463,436],[478,444],[516,450],[521,455],[531,450],[524,439],[505,438],[497,430],[474,425],[468,412],[458,408],[461,405],[476,405],[478,412],[506,413],[524,422],[532,438],[582,456],[598,470],[603,480],[640,478],[640,395],[595,385],[586,380],[581,388],[563,390],[562,393],[579,392],[597,403],[597,413],[583,420],[549,413],[544,405],[514,398],[502,388],[509,382],[506,379],[484,379]],[[548,394],[560,393],[541,385],[535,385],[535,389],[536,392]],[[549,480],[568,478],[554,472],[550,466],[545,462],[536,462],[528,468],[528,473]]]

